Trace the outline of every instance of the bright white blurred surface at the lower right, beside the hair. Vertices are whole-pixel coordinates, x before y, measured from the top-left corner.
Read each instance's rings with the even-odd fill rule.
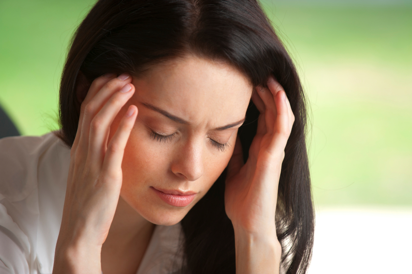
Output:
[[[309,274],[412,274],[412,208],[316,213]]]

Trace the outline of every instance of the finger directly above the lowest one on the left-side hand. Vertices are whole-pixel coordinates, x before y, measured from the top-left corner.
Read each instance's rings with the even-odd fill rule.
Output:
[[[110,126],[116,115],[134,94],[134,86],[126,84],[104,104],[90,123],[88,160],[102,162]]]

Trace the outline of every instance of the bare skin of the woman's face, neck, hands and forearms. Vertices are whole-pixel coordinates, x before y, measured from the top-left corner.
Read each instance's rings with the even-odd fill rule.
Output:
[[[238,70],[194,56],[140,78],[97,78],[81,105],[53,273],[135,273],[155,224],[178,223],[228,163],[237,273],[278,273],[277,184],[294,117],[283,88],[272,78],[268,87],[252,96]],[[261,115],[243,164],[235,144],[251,96]],[[152,187],[196,195],[175,207]]]

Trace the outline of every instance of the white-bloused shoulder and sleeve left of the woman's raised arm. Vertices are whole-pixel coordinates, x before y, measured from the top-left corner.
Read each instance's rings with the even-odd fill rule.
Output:
[[[52,132],[0,139],[1,260],[24,258],[30,273],[51,273],[69,162]]]

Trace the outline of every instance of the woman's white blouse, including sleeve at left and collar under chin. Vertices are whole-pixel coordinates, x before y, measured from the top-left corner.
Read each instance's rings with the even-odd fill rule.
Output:
[[[70,149],[53,133],[0,139],[0,274],[49,274],[62,221]],[[180,223],[156,226],[137,274],[181,265]]]

